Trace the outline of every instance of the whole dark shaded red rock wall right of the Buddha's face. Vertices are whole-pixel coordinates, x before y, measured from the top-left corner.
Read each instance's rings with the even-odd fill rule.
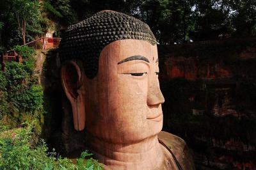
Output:
[[[255,42],[255,40],[253,41]],[[208,53],[207,50],[205,55],[202,52],[200,53],[201,43],[181,45],[177,48],[175,46],[165,47],[164,52],[159,48],[159,59],[162,59],[162,62],[160,62],[162,64],[159,66],[161,73],[159,79],[162,84],[169,83],[165,87],[166,91],[163,92],[166,99],[163,110],[167,112],[164,115],[164,118],[167,119],[164,128],[170,126],[172,132],[177,130],[177,134],[181,136],[182,132],[190,137],[193,136],[193,139],[184,138],[188,140],[188,144],[191,143],[191,148],[194,150],[197,169],[256,169],[256,145],[255,143],[248,143],[248,139],[250,141],[250,137],[253,137],[254,134],[250,134],[250,128],[244,127],[247,120],[255,120],[256,118],[256,109],[253,107],[255,105],[255,102],[253,102],[255,101],[255,93],[253,92],[255,91],[255,85],[253,85],[253,82],[256,80],[256,45],[253,42],[254,46],[249,45],[250,47],[237,50],[236,46],[247,43],[246,40],[239,40],[238,42],[230,49],[219,51],[217,46],[211,48],[210,42],[207,44],[210,47],[209,49],[214,52],[217,51],[213,55],[209,55],[211,51]],[[220,43],[223,43],[223,47],[228,47],[232,40]],[[214,44],[216,45],[216,42],[212,43],[212,45]],[[186,50],[188,47],[191,54],[187,52],[185,55],[182,50]],[[179,50],[179,52],[175,52],[175,50]],[[179,80],[181,84],[172,85]],[[199,82],[199,86],[195,82]],[[250,85],[244,86],[244,84]],[[171,89],[173,92],[169,93],[168,91]],[[173,96],[169,97],[168,95]],[[172,98],[175,99],[172,100]],[[172,102],[169,102],[169,100],[172,100]],[[172,105],[173,101],[178,102]],[[167,108],[167,105],[171,105],[170,109]],[[216,120],[222,120],[220,124],[222,123],[221,126],[226,128],[220,129],[222,138],[221,135],[218,135],[219,132],[215,130],[218,125],[209,127],[208,130],[212,134],[207,134],[207,132],[204,132],[206,129],[200,128],[195,128],[198,132],[195,132],[195,130],[189,132],[188,128],[190,127],[184,131],[180,130],[184,127],[180,129],[177,129],[179,126],[172,128],[175,121],[179,121],[172,121],[172,115],[176,112],[180,115],[180,112],[188,111],[190,112],[189,115],[194,116],[193,119],[195,120],[197,117],[199,119],[205,115],[211,115],[210,120],[212,117]],[[178,118],[179,115],[177,115]],[[236,121],[230,121],[229,118]],[[244,124],[239,123],[244,118],[247,119],[243,121]],[[239,125],[236,125],[235,122]],[[199,121],[196,126],[200,123],[202,122]],[[184,126],[182,122],[178,124]],[[233,128],[236,128],[236,130]],[[236,134],[238,131],[242,135]],[[232,133],[228,134],[228,132]],[[205,144],[205,146],[202,146],[202,144]],[[198,147],[200,150],[198,150]]]

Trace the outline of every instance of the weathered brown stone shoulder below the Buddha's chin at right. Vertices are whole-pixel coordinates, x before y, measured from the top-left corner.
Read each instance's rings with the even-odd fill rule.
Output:
[[[184,170],[195,169],[193,157],[186,142],[177,135],[161,131],[158,134],[160,139],[175,155],[180,166]]]

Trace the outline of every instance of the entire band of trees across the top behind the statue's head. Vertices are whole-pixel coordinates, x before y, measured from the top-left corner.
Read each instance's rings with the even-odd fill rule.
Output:
[[[256,1],[252,0],[44,0],[41,3],[38,0],[2,1],[0,46],[4,47],[19,42],[20,37],[31,40],[36,35],[42,35],[51,25],[51,20],[59,28],[67,27],[100,10],[124,12],[147,22],[160,44],[256,34]],[[24,25],[22,27],[19,24],[22,23],[20,19],[27,21],[26,32]]]

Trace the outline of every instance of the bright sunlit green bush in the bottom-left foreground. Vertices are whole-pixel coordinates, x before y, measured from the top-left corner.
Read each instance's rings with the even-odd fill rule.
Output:
[[[0,169],[102,169],[93,158],[84,160],[92,154],[84,151],[77,164],[68,158],[56,158],[56,153],[47,152],[44,141],[35,143],[33,126],[7,130],[0,127]]]

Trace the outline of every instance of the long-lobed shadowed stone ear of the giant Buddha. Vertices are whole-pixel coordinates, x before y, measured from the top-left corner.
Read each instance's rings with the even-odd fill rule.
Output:
[[[81,68],[76,62],[68,61],[61,67],[61,84],[72,106],[74,128],[81,131],[86,120],[84,80]]]

